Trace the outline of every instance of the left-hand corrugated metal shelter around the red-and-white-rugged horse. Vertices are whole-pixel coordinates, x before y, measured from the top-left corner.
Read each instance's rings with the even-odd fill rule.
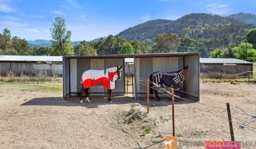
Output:
[[[86,70],[104,70],[105,68],[123,65],[125,71],[125,58],[128,56],[68,56],[63,57],[63,98],[78,95],[82,85],[80,79]],[[125,95],[125,79],[122,75],[121,81],[112,90],[112,95]],[[90,95],[108,95],[103,86],[91,87]]]

